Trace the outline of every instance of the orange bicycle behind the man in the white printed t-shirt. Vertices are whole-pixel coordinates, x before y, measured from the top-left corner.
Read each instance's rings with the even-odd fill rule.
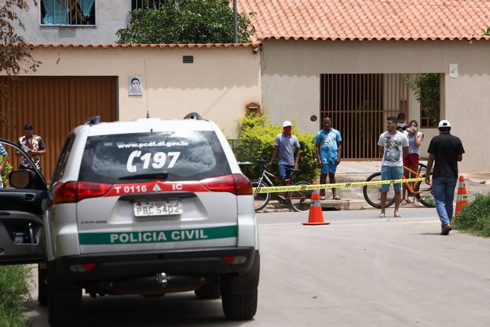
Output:
[[[408,171],[411,173],[412,178],[422,178],[425,177],[426,174],[421,174],[422,169],[427,170],[427,166],[419,163],[419,171],[414,172],[413,170],[403,166],[404,171]],[[429,173],[432,175],[432,173]],[[402,179],[406,179],[405,176],[402,176]],[[381,172],[377,172],[367,177],[366,182],[369,181],[380,181],[381,180]],[[418,181],[415,185],[415,188],[412,188],[411,183],[403,182],[407,188],[408,196],[416,197],[420,203],[429,208],[435,207],[434,196],[432,195],[432,186],[427,185],[424,180]],[[364,199],[370,205],[375,208],[381,208],[381,185],[365,185],[362,188],[362,193],[364,194]],[[389,207],[391,204],[395,203],[395,191],[393,188],[390,188],[387,196],[386,196],[386,207]]]

